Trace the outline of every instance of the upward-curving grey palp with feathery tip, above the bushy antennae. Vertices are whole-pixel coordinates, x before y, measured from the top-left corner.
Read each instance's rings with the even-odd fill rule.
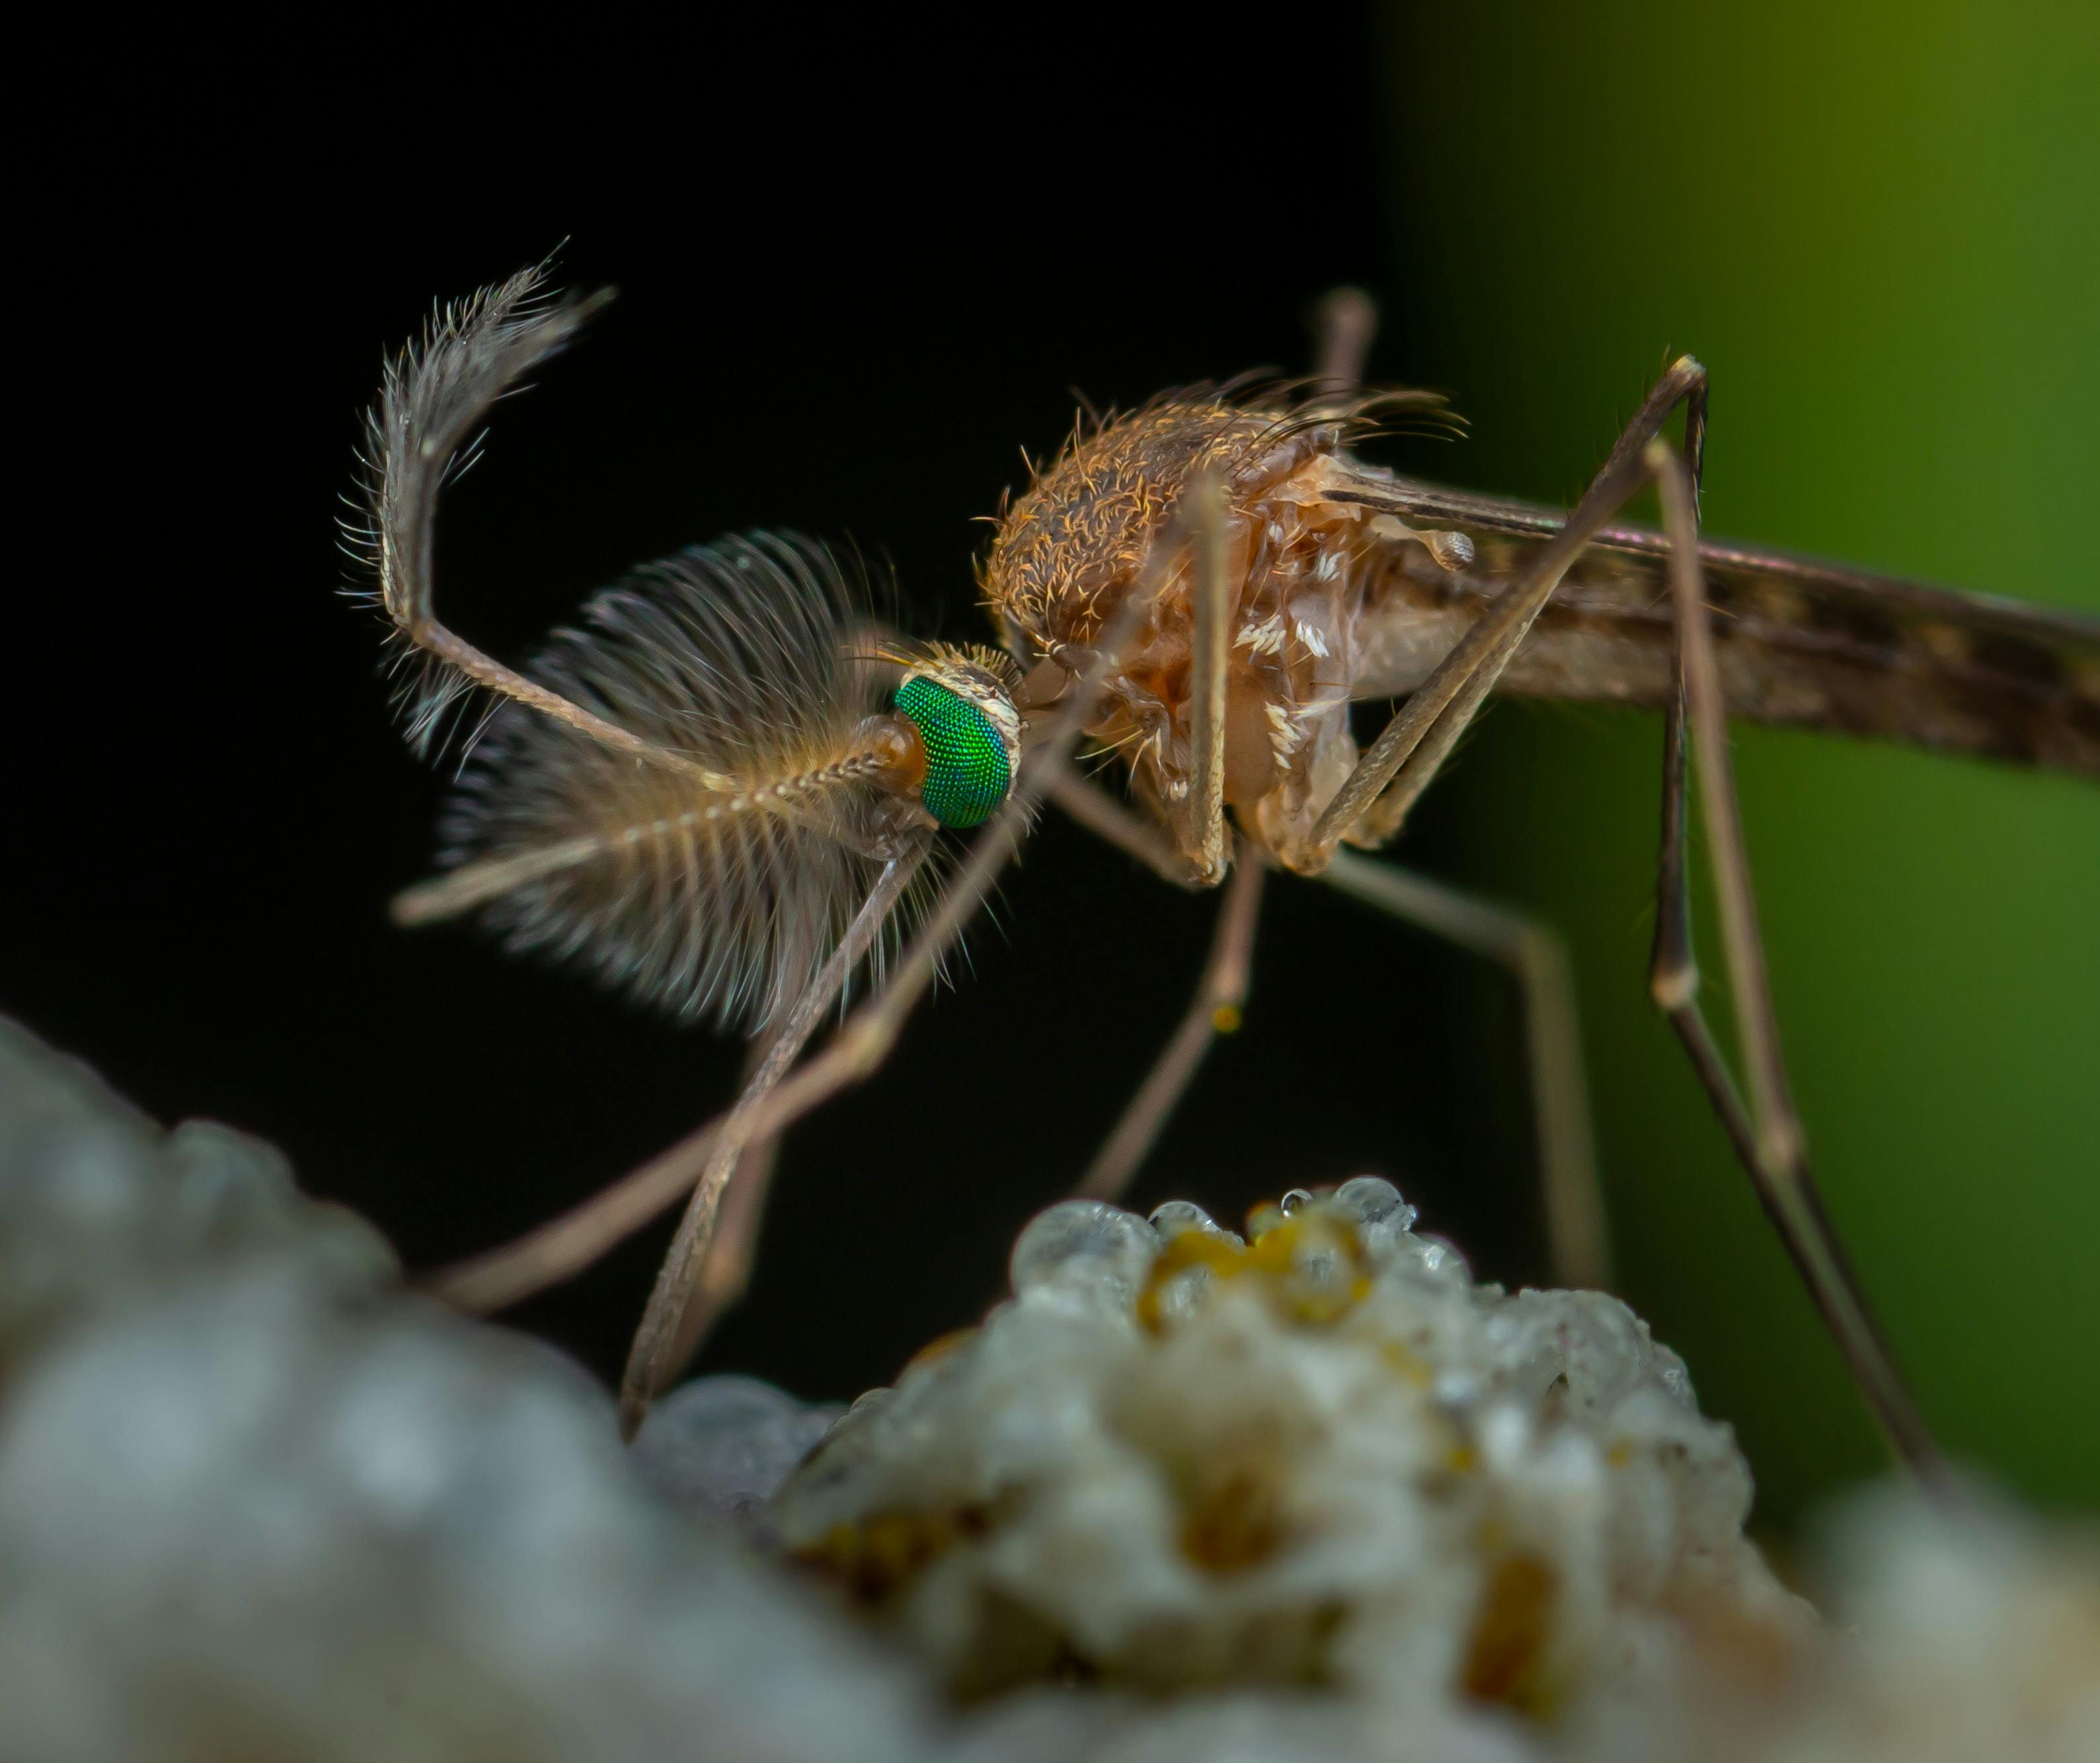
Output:
[[[485,686],[622,753],[733,787],[483,655],[439,623],[433,604],[437,497],[460,449],[489,407],[559,355],[609,298],[603,292],[550,304],[540,264],[439,313],[420,346],[386,363],[378,405],[365,420],[365,521],[351,541],[378,573],[376,598],[397,636],[435,663],[407,701],[407,732],[418,751],[430,745],[462,693]]]

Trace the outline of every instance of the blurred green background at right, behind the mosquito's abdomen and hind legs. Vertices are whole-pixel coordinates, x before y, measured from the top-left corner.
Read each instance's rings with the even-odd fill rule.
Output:
[[[1573,502],[1690,351],[1712,531],[2100,611],[2100,8],[1392,8],[1378,50],[1399,355],[1472,418],[1443,474]],[[1785,1522],[1880,1448],[1648,1010],[1657,766],[1653,716],[1502,709],[1455,863],[1569,932],[1621,1287]],[[2100,791],[1747,728],[1737,768],[1814,1167],[1919,1400],[2100,1505]]]

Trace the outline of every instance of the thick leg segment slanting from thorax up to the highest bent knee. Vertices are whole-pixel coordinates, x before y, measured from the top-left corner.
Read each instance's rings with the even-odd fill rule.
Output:
[[[1510,665],[1560,577],[1598,529],[1648,481],[1642,449],[1680,403],[1686,405],[1684,458],[1697,483],[1705,441],[1705,367],[1688,355],[1678,357],[1663,374],[1567,525],[1451,646],[1344,779],[1312,825],[1310,854],[1302,867],[1323,867],[1344,837],[1384,844],[1399,831],[1413,800],[1436,777],[1480,701]]]

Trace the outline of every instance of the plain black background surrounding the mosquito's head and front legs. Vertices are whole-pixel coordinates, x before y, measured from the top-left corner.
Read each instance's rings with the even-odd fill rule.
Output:
[[[519,659],[630,562],[743,527],[895,565],[983,636],[972,525],[1130,403],[1300,367],[1312,300],[1380,294],[1422,371],[1350,10],[1058,36],[386,27],[52,63],[19,220],[0,1007],[162,1119],[250,1127],[412,1266],[573,1203],[731,1093],[678,1031],[384,902],[443,783],[403,749],[338,497],[382,348],[563,250],[620,285],[498,416],[439,602]],[[1436,867],[1432,795],[1409,861]],[[708,1364],[886,1381],[995,1297],[1163,1041],[1214,900],[1050,821],[970,972],[790,1140],[758,1284]],[[1485,1274],[1544,1274],[1514,993],[1325,890],[1270,890],[1247,1028],[1142,1171],[1235,1215],[1376,1169]],[[662,1251],[519,1312],[617,1368]]]

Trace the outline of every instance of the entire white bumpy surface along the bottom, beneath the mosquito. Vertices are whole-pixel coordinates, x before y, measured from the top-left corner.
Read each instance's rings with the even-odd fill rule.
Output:
[[[1054,1207],[775,1496],[830,1410],[701,1379],[624,1452],[269,1146],[0,1022],[0,1757],[2100,1757],[2090,1528],[1871,1494],[1816,1624],[1623,1305],[1411,1222]]]

